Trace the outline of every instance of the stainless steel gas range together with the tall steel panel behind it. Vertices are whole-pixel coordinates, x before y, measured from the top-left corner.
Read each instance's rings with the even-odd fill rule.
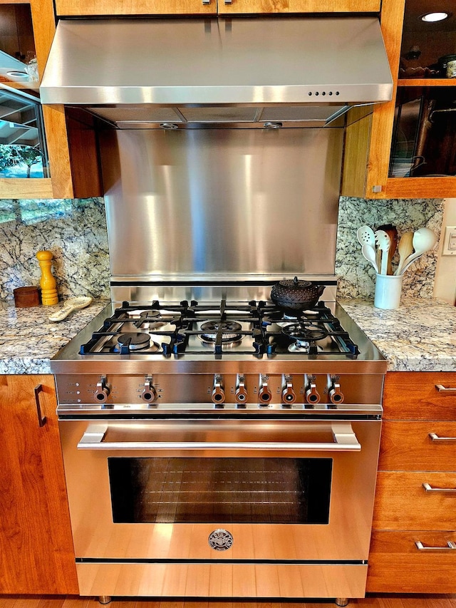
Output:
[[[100,141],[113,302],[51,363],[81,594],[363,597],[386,362],[336,304],[343,130]]]

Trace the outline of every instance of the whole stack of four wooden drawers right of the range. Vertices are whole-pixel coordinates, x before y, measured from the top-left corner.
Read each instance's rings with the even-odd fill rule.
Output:
[[[455,593],[456,373],[387,373],[383,410],[367,590]]]

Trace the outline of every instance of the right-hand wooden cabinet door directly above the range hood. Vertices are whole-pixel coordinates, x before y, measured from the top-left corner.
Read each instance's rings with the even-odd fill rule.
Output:
[[[380,0],[218,0],[223,13],[356,13],[380,11]]]

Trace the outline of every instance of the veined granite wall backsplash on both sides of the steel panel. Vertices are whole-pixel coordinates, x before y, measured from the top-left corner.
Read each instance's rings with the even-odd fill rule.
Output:
[[[361,254],[356,230],[392,223],[399,235],[421,226],[440,236],[442,200],[364,200],[341,197],[336,274],[339,297],[373,297],[375,271]],[[109,254],[103,198],[0,200],[0,299],[13,289],[38,285],[36,252],[53,252],[53,274],[61,299],[74,295],[109,298]],[[398,262],[396,253],[393,260]],[[431,297],[437,251],[426,254],[405,275],[405,296]]]

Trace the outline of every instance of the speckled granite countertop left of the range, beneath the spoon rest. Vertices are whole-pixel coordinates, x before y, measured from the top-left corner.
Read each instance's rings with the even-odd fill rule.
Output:
[[[107,300],[94,300],[63,321],[48,317],[63,306],[15,308],[0,302],[0,373],[52,373],[49,360],[102,310]]]

